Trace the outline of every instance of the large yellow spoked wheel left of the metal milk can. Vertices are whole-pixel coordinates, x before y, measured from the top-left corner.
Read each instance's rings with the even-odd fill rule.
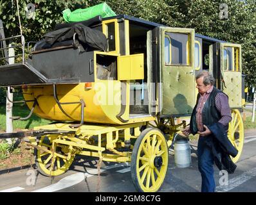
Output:
[[[168,167],[168,147],[163,133],[147,128],[136,140],[131,158],[131,176],[139,192],[157,192]]]

